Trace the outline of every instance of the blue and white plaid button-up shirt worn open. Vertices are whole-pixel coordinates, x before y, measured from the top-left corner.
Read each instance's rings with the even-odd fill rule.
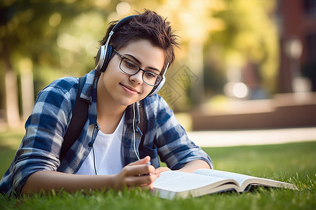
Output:
[[[80,97],[91,102],[88,120],[77,141],[60,162],[60,148],[63,136],[72,117],[72,108],[77,95],[78,78],[60,78],[41,90],[34,104],[32,114],[25,123],[25,137],[15,158],[0,181],[0,193],[20,192],[28,177],[34,172],[58,171],[74,174],[91,151],[100,129],[97,123],[96,71],[86,74],[86,83]],[[212,167],[209,156],[196,146],[183,127],[180,126],[173,111],[162,97],[155,94],[139,102],[145,113],[147,132],[140,156],[150,155],[154,167],[159,167],[159,158],[170,169],[180,169],[192,160],[204,160]],[[136,120],[136,148],[140,144],[142,132],[138,127],[140,114],[138,106],[128,106],[122,139],[124,165],[138,160],[134,151],[133,115]],[[90,144],[89,144],[90,143]],[[159,156],[159,157],[158,157]]]

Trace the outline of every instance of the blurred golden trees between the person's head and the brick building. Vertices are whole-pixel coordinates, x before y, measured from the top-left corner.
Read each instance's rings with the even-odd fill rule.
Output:
[[[168,84],[177,91],[165,91],[174,94],[171,99],[181,94],[172,104],[173,109],[188,109],[190,106],[183,104],[190,101],[199,104],[206,101],[203,97],[223,92],[226,73],[231,69],[240,71],[243,77],[249,74],[245,69],[250,68],[258,83],[275,92],[279,64],[277,27],[273,19],[275,0],[139,0],[129,3],[136,10],[142,6],[156,10],[170,20],[180,35],[181,50],[177,51],[176,63],[169,75],[167,73],[171,77]],[[183,65],[197,77],[197,81],[187,81],[185,93],[174,83],[174,72],[180,72]],[[190,89],[191,94],[185,98],[183,94]],[[204,95],[204,89],[208,95]]]

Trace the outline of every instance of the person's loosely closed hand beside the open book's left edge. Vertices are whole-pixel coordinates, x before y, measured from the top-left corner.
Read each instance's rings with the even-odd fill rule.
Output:
[[[126,165],[119,174],[114,176],[114,189],[123,190],[125,187],[134,188],[140,186],[143,189],[152,190],[154,181],[157,179],[152,165],[147,166],[150,157],[147,156],[136,162]],[[145,176],[142,176],[146,174]]]

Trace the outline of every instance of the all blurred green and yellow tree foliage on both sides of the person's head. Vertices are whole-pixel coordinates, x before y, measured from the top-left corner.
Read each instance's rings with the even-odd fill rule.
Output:
[[[35,94],[55,78],[81,76],[94,67],[93,57],[107,23],[144,8],[168,18],[180,35],[181,48],[176,50],[171,73],[167,73],[173,94],[178,92],[176,103],[171,105],[180,110],[190,108],[184,105],[192,97],[186,93],[190,85],[180,87],[173,72],[187,68],[196,73],[201,65],[195,66],[195,59],[204,62],[206,79],[199,82],[205,81],[210,92],[223,90],[228,69],[242,69],[248,62],[259,66],[263,85],[274,90],[278,67],[274,4],[273,0],[1,1],[0,110],[10,104],[6,103],[8,94],[18,95],[5,85],[8,73],[19,78],[32,71]],[[195,55],[195,46],[202,49],[204,59],[200,53]],[[195,85],[195,81],[189,82]]]

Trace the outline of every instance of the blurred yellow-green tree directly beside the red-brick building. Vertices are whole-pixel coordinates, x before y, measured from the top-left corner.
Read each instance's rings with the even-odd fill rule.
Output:
[[[222,0],[224,10],[214,11],[215,18],[225,23],[223,30],[213,31],[206,44],[206,55],[213,62],[206,71],[245,72],[246,66],[258,66],[256,79],[269,92],[276,92],[279,67],[277,26],[274,0]],[[215,64],[215,66],[214,66]],[[256,71],[256,69],[252,69]],[[243,75],[242,75],[243,77]],[[243,79],[243,78],[242,78]],[[208,84],[216,89],[215,85]],[[215,87],[214,87],[215,86]]]

